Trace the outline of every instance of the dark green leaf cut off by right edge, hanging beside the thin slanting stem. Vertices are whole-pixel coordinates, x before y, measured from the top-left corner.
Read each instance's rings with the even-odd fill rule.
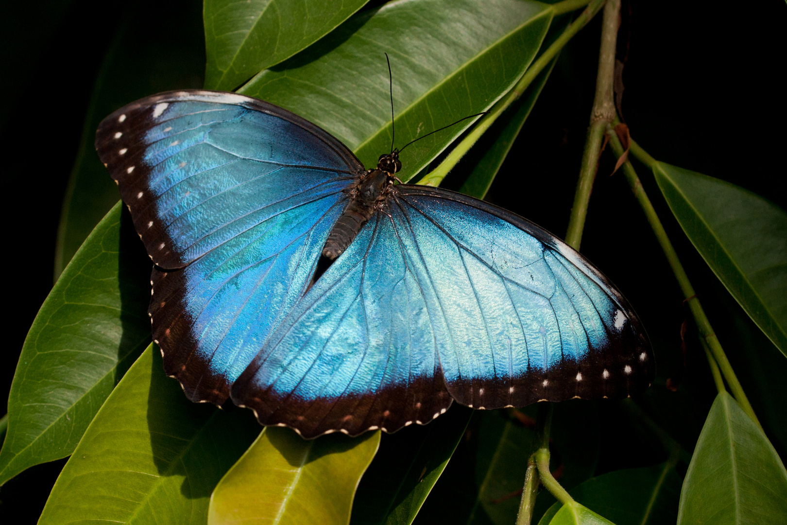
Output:
[[[787,356],[787,213],[701,173],[663,162],[653,173],[705,262]]]

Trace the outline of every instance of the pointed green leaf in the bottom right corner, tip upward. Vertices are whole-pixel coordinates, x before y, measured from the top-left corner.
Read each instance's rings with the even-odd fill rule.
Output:
[[[787,523],[787,471],[730,394],[708,412],[681,491],[678,525]]]

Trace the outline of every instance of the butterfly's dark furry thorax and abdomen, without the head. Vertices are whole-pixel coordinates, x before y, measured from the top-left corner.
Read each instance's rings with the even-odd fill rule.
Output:
[[[342,255],[361,227],[375,213],[375,207],[385,198],[386,187],[390,186],[391,176],[379,169],[368,172],[350,190],[350,200],[328,235],[323,248],[323,256],[333,261]]]

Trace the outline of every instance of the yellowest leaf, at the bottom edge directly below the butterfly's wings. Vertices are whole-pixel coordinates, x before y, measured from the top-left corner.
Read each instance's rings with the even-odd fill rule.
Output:
[[[208,523],[345,525],[379,443],[380,431],[305,440],[266,427],[213,490]]]

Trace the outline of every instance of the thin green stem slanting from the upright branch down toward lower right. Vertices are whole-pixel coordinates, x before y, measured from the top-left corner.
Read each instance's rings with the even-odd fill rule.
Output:
[[[615,152],[617,157],[620,157],[623,155],[623,145],[620,143],[618,135],[616,135],[615,131],[612,129],[608,130],[608,134],[609,143],[612,146],[612,150]],[[635,150],[634,144],[635,142],[631,141],[630,151],[634,153],[635,157],[643,158],[646,161],[645,163],[651,166],[654,170],[660,169],[659,163],[655,161],[653,157],[645,153],[645,151],[639,146],[637,146]],[[741,409],[743,409],[744,412],[746,412],[748,416],[751,417],[755,423],[757,423],[757,426],[762,428],[762,425],[759,424],[759,420],[754,413],[754,409],[752,409],[752,405],[748,402],[748,397],[746,397],[741,383],[738,381],[737,376],[733,371],[730,360],[727,359],[726,353],[724,353],[724,349],[722,349],[722,344],[719,342],[719,338],[716,337],[713,327],[711,327],[711,322],[708,320],[708,316],[705,315],[705,311],[700,304],[700,299],[696,297],[694,287],[692,287],[691,282],[689,281],[689,275],[686,275],[683,265],[681,264],[680,259],[678,259],[678,253],[675,252],[672,242],[670,242],[670,238],[667,237],[667,231],[664,230],[664,227],[659,220],[659,216],[656,215],[656,209],[653,208],[648,195],[645,194],[645,188],[642,187],[642,183],[637,176],[637,172],[634,171],[634,166],[631,165],[630,161],[623,163],[623,174],[626,176],[626,180],[631,187],[631,191],[634,192],[634,197],[637,198],[637,202],[639,202],[642,211],[645,212],[645,217],[648,219],[648,223],[650,223],[653,233],[656,234],[656,238],[661,245],[661,249],[663,250],[664,255],[667,257],[667,261],[670,263],[672,272],[675,275],[675,279],[678,279],[678,285],[680,285],[683,296],[685,297],[685,301],[689,305],[689,310],[692,312],[696,327],[700,331],[700,338],[702,338],[704,342],[708,344],[708,348],[711,350],[711,354],[715,359],[716,364],[718,364],[719,368],[721,368],[724,379],[726,379],[727,384],[730,385],[730,390],[735,397],[735,401],[737,401],[738,405],[741,405]]]

